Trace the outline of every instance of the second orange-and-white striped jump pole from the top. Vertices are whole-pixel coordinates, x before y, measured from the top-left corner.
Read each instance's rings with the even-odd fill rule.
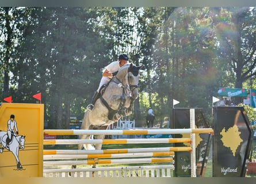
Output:
[[[146,144],[146,143],[191,143],[190,138],[156,138],[156,139],[46,139],[48,144]]]

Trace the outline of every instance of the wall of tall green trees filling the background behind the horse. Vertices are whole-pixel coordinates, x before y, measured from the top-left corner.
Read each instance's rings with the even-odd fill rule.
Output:
[[[35,103],[32,95],[41,92],[52,128],[83,116],[102,69],[124,52],[144,64],[129,117],[138,121],[150,106],[164,121],[173,99],[211,116],[218,87],[256,86],[255,8],[12,7],[10,40],[6,9],[0,9],[0,95]]]

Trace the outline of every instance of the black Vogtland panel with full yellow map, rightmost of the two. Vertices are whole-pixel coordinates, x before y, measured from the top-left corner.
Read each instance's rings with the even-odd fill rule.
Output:
[[[253,130],[241,106],[213,106],[213,177],[245,177]]]

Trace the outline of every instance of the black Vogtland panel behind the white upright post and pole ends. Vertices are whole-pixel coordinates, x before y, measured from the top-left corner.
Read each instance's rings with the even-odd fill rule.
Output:
[[[196,128],[209,128],[202,113],[202,109],[195,109]],[[190,108],[174,108],[173,124],[171,128],[190,128]],[[174,138],[188,138],[190,134],[174,134]],[[211,134],[196,134],[196,163],[197,177],[204,177],[204,171],[207,166],[209,143]],[[174,147],[190,146],[189,143],[175,143]],[[175,152],[174,177],[191,176],[191,157],[190,152]]]

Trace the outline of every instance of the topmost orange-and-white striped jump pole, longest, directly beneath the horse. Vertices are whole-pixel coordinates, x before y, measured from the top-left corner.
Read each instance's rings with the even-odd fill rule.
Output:
[[[47,135],[151,135],[151,134],[182,134],[182,133],[212,133],[212,128],[196,129],[128,129],[128,130],[71,130],[45,129]]]

